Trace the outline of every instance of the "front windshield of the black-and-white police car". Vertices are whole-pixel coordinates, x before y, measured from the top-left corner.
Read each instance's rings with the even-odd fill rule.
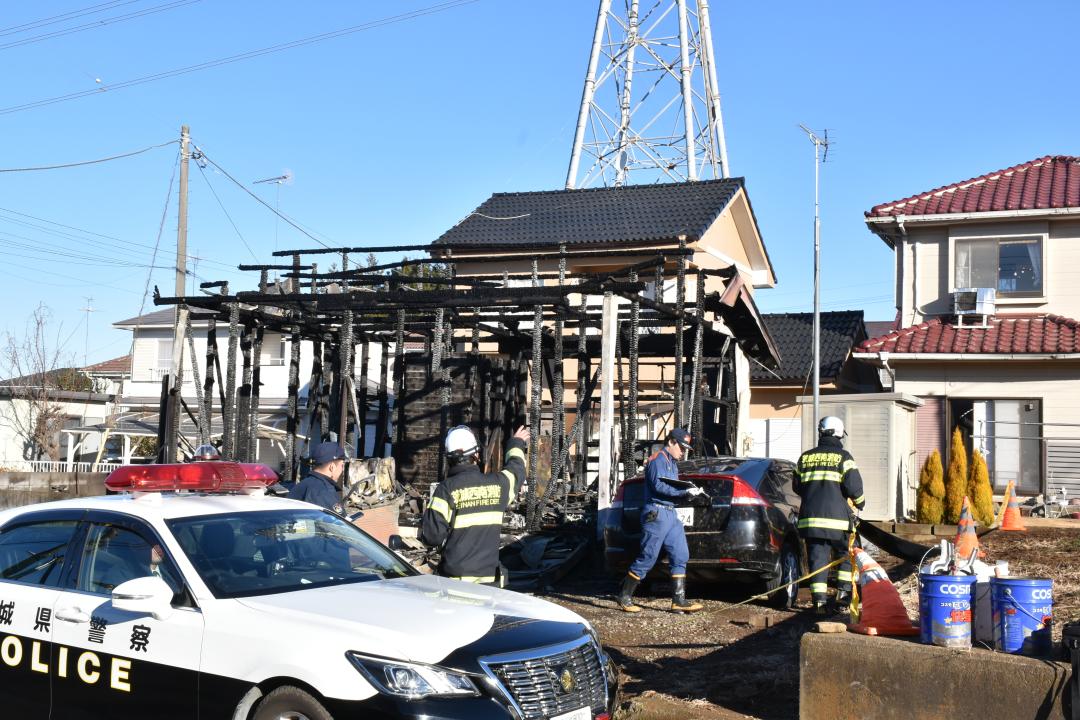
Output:
[[[167,525],[218,598],[415,574],[386,547],[324,511],[227,513]]]

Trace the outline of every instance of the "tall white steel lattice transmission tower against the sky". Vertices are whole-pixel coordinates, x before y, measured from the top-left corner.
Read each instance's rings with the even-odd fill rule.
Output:
[[[566,187],[728,176],[708,0],[600,0]]]

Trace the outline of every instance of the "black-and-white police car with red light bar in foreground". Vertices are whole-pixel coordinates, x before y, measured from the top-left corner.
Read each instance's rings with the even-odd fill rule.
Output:
[[[606,720],[579,615],[424,575],[261,465],[0,513],[0,717]]]

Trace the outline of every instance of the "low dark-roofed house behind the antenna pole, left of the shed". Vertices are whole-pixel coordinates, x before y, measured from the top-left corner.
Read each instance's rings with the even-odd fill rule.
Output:
[[[780,368],[751,366],[751,433],[746,453],[797,460],[802,452],[801,404],[812,393],[813,313],[767,313],[765,324],[780,351]],[[851,357],[866,340],[863,311],[821,313],[822,394],[876,392],[877,376]]]

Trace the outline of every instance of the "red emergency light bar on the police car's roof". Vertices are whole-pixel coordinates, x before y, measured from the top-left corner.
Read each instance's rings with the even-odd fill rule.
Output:
[[[193,462],[175,465],[124,465],[112,471],[105,487],[113,492],[257,490],[278,481],[266,465],[241,462]]]

